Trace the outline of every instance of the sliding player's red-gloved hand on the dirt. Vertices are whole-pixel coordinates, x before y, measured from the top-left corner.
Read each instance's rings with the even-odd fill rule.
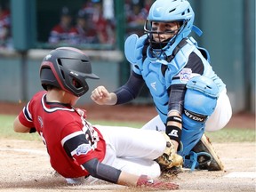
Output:
[[[137,181],[137,187],[175,190],[179,188],[179,185],[162,180],[149,179],[147,175],[141,175]]]

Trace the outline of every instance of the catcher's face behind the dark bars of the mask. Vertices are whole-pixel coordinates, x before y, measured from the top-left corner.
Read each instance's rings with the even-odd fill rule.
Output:
[[[164,42],[167,39],[175,36],[179,29],[178,22],[152,22],[153,31],[157,32],[153,33],[153,38],[156,42]],[[166,33],[168,32],[168,33]]]

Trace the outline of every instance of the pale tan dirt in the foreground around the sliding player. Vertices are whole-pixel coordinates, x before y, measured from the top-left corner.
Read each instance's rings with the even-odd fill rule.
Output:
[[[254,143],[214,143],[225,164],[224,172],[182,172],[171,180],[180,192],[255,191]],[[0,140],[0,191],[136,191],[116,185],[68,186],[52,174],[49,157],[41,141]]]

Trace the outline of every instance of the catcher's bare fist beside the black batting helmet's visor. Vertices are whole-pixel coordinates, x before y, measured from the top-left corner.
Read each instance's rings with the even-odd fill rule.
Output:
[[[116,94],[108,92],[104,86],[98,86],[92,91],[91,99],[98,105],[114,105],[116,104]]]

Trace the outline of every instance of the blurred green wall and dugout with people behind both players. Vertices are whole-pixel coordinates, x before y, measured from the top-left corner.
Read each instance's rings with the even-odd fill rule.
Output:
[[[6,91],[0,100],[28,100],[36,92],[40,61],[58,46],[86,52],[100,82],[115,90],[130,76],[124,41],[133,33],[144,34],[155,1],[0,0],[0,90]],[[204,32],[191,36],[210,52],[234,112],[255,112],[255,0],[188,1],[194,23]],[[150,99],[145,90],[138,102]]]

